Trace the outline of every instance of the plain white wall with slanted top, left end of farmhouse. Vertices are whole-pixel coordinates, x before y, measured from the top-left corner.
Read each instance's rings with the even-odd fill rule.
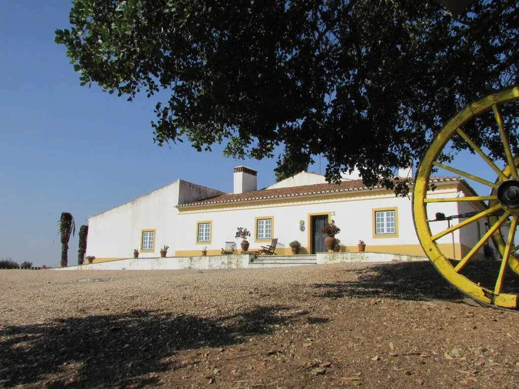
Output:
[[[133,249],[139,249],[141,258],[157,257],[160,247],[169,245],[168,255],[178,249],[175,239],[177,229],[176,205],[182,202],[197,201],[222,193],[215,189],[202,187],[183,180],[157,189],[133,201],[88,219],[86,256],[98,259],[128,258]],[[141,252],[141,231],[155,230],[155,249]]]

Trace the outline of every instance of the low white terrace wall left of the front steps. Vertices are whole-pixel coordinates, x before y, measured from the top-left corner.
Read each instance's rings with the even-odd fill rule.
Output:
[[[87,263],[54,270],[182,270],[242,269],[249,266],[253,255],[217,255],[206,257],[128,258],[117,261]]]

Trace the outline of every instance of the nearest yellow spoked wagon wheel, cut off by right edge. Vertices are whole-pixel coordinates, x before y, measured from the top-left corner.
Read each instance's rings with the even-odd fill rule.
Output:
[[[507,129],[501,117],[500,106],[517,100],[519,100],[519,87],[515,86],[489,94],[461,109],[458,114],[449,120],[431,142],[429,149],[426,151],[418,166],[413,189],[413,220],[415,230],[424,252],[436,269],[448,282],[473,299],[484,304],[508,309],[517,309],[519,301],[519,295],[517,293],[507,293],[503,291],[503,280],[505,278],[507,263],[509,263],[510,267],[514,270],[519,268],[517,258],[511,255],[513,250],[516,249],[512,242],[519,221],[519,174],[508,141]],[[489,155],[490,153],[477,146],[464,131],[463,126],[465,126],[465,124],[483,114],[489,113],[494,114],[497,131],[499,131],[500,141],[504,150],[503,154],[506,156],[506,158],[503,158],[506,161],[506,167],[504,169],[499,168],[497,161],[493,160],[493,157]],[[459,170],[451,165],[437,161],[442,151],[446,149],[449,141],[452,141],[454,137],[456,137],[458,141],[461,138],[466,146],[468,146],[467,148],[470,149],[475,156],[486,162],[489,168],[494,171],[497,178],[488,180],[476,174]],[[513,166],[513,169],[510,169],[511,166]],[[491,188],[490,195],[443,199],[434,197],[434,192],[432,192],[433,195],[430,194],[431,192],[428,192],[431,174],[434,168],[441,168],[455,173],[464,179],[471,179],[488,186]],[[470,217],[467,216],[465,219],[458,221],[458,223],[453,226],[434,233],[431,232],[431,219],[434,217],[431,217],[430,213],[434,206],[448,202],[460,204],[460,202],[463,201],[478,202],[480,209],[475,211]],[[488,217],[491,218],[489,219],[488,230],[462,258],[458,258],[455,261],[453,258],[448,258],[442,252],[439,247],[439,240],[441,238]],[[459,218],[457,218],[457,220],[459,220]],[[508,222],[510,223],[508,227],[509,231],[506,237],[503,238],[500,233],[500,228],[508,224]],[[499,238],[502,239],[501,246],[497,244],[498,247],[501,247],[499,252],[502,259],[499,264],[494,285],[482,286],[479,282],[469,279],[467,274],[463,274],[463,272],[467,265],[470,265],[471,262],[475,262],[476,254],[479,253],[483,245],[491,238],[495,241],[499,241]],[[458,243],[460,243],[459,240]]]

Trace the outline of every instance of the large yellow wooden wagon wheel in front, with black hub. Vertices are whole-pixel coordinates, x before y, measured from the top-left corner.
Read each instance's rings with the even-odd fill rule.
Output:
[[[511,255],[517,249],[514,238],[519,218],[519,174],[514,159],[517,145],[513,144],[514,147],[511,147],[509,143],[510,132],[517,129],[508,128],[512,122],[515,123],[517,116],[507,121],[503,120],[501,113],[517,113],[517,103],[519,87],[516,86],[485,96],[460,110],[436,135],[420,161],[413,189],[413,219],[416,233],[422,248],[436,269],[447,281],[475,300],[508,309],[519,308],[519,284],[517,280],[512,279],[516,274],[507,272],[507,265],[513,269],[517,269],[519,265],[516,257]],[[496,135],[493,139],[499,140],[502,158],[496,157],[495,151],[491,152],[486,147],[478,146],[466,130],[477,128],[483,123],[483,118],[486,120],[489,116],[493,116],[495,120],[491,130]],[[484,127],[484,130],[489,131],[488,126]],[[493,179],[481,176],[477,170],[467,172],[457,169],[455,161],[441,162],[441,156],[449,154],[449,148],[460,142],[464,142],[475,158],[484,161],[486,166],[491,168]],[[433,169],[444,169],[463,179],[482,184],[491,189],[490,195],[445,197],[437,194],[429,190]],[[452,215],[452,218],[447,217],[449,223],[453,220],[453,224],[439,229],[438,224],[434,225],[434,220],[443,217],[438,217],[435,212],[439,206],[453,203],[457,204],[459,209],[462,208],[462,204],[475,204],[477,206],[474,205],[474,209],[477,210]],[[470,226],[475,233],[473,226],[485,221],[488,229],[481,237],[476,238],[476,243],[466,253],[462,253],[461,257],[449,258],[450,254],[442,252],[442,238],[445,240],[450,234],[460,233],[461,229],[467,230]],[[491,270],[494,262],[481,260],[483,246],[491,241],[490,238],[495,239],[501,258],[496,262],[494,273],[488,270]],[[477,273],[478,269],[484,270]]]

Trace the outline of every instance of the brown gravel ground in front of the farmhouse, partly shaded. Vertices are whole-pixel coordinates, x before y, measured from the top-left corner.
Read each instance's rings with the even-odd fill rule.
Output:
[[[519,316],[428,262],[0,271],[0,387],[516,388]]]

